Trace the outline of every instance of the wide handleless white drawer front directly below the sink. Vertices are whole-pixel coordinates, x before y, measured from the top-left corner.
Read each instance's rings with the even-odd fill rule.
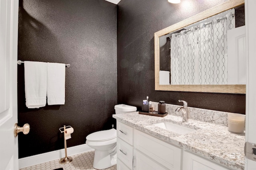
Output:
[[[170,170],[181,168],[182,150],[134,129],[134,148]]]

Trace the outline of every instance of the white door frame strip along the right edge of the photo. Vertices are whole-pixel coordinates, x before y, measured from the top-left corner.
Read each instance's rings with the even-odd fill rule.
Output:
[[[256,0],[245,0],[246,25],[246,142],[256,144]],[[254,155],[256,158],[256,155]],[[256,160],[246,160],[245,170],[255,170]]]

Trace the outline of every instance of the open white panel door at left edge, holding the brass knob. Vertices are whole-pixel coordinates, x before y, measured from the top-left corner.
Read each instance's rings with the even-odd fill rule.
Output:
[[[18,0],[0,0],[0,170],[18,170]]]

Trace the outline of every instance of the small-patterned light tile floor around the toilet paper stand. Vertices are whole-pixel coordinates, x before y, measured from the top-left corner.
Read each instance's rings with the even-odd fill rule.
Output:
[[[22,168],[20,170],[54,170],[57,168],[63,168],[63,170],[95,170],[93,168],[94,151],[76,154],[71,157],[73,158],[73,161],[69,164],[60,164],[58,159],[39,165]],[[116,165],[105,170],[116,170]]]

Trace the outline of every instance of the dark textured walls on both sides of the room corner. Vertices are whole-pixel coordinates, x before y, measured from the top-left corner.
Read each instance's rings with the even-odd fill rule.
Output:
[[[149,96],[152,101],[178,104],[183,99],[192,107],[245,113],[245,95],[154,90],[154,32],[221,2],[121,0],[116,29],[116,5],[104,0],[20,0],[18,59],[71,67],[66,68],[65,105],[27,109],[24,66],[18,66],[18,123],[31,127],[28,135],[19,135],[19,157],[64,148],[58,130],[63,125],[74,127],[68,147],[84,144],[94,131],[110,129],[117,92],[118,103],[138,109]]]

